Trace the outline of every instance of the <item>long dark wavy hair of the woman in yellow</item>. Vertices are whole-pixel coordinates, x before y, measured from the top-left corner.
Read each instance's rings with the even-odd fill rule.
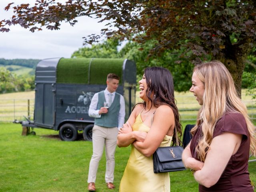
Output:
[[[182,136],[182,125],[180,124],[180,114],[176,106],[176,100],[174,98],[174,84],[172,79],[172,74],[166,68],[162,67],[149,67],[144,70],[144,75],[146,77],[146,84],[148,86],[146,90],[146,96],[149,99],[149,104],[159,107],[160,105],[168,105],[172,108],[174,113],[178,141],[181,143]],[[154,96],[152,96],[154,95]],[[142,102],[143,106],[146,107],[146,102]],[[172,146],[176,144],[176,134],[172,136]]]

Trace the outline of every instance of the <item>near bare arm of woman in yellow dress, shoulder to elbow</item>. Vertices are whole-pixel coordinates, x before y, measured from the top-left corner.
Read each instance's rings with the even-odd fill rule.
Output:
[[[145,156],[151,156],[160,146],[169,129],[174,129],[174,114],[169,106],[158,107],[154,121],[144,142],[135,141],[134,147]]]

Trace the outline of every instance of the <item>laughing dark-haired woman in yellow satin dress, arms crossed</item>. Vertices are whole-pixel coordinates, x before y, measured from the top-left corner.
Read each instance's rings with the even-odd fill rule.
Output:
[[[169,173],[154,173],[152,154],[176,144],[175,122],[181,136],[172,75],[162,67],[146,68],[139,84],[143,102],[135,105],[117,138],[119,147],[131,145],[119,192],[170,192]]]

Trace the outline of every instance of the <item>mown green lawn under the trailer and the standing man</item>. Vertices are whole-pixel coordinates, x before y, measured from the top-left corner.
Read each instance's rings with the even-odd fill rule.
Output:
[[[186,122],[186,124],[194,122]],[[185,124],[183,124],[185,127]],[[20,124],[0,124],[1,192],[84,192],[87,191],[88,165],[92,142],[64,142],[58,132],[34,129],[36,136],[21,136]],[[105,185],[105,156],[97,174],[98,192],[117,192],[130,147],[116,149],[114,184]],[[256,162],[249,163],[250,177],[256,183]],[[172,192],[196,192],[198,184],[189,170],[170,173]]]

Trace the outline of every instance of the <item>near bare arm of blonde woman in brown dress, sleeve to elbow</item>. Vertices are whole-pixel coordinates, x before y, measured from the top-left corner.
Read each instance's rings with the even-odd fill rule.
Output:
[[[212,139],[204,166],[194,173],[195,180],[206,186],[218,182],[232,154],[235,154],[241,144],[242,135],[225,132]]]

